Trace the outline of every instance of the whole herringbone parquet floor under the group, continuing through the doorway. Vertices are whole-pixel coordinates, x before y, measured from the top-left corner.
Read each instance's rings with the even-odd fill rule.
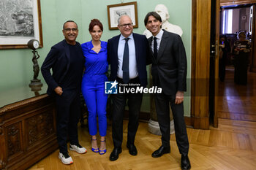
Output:
[[[252,77],[256,77],[252,74]],[[229,77],[229,78],[228,78]],[[232,70],[227,71],[227,79],[220,84],[219,95],[219,128],[209,130],[187,128],[189,136],[189,159],[192,169],[202,170],[249,170],[256,169],[256,78],[249,79],[249,85],[231,88]],[[256,85],[256,84],[255,84]],[[230,88],[227,88],[230,87]],[[161,158],[152,158],[151,153],[161,145],[160,136],[147,131],[148,124],[140,123],[135,139],[138,155],[129,155],[126,148],[127,120],[124,120],[123,152],[117,161],[109,161],[113,150],[111,127],[108,126],[107,153],[99,155],[90,150],[90,137],[87,128],[80,128],[80,144],[88,152],[80,155],[70,151],[74,163],[65,166],[58,158],[56,150],[48,157],[31,166],[30,170],[165,170],[180,169],[180,154],[175,136],[171,135],[170,154]]]

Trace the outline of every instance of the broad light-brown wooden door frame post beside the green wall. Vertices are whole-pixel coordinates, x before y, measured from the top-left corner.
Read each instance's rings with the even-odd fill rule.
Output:
[[[209,128],[211,1],[192,0],[191,125]]]

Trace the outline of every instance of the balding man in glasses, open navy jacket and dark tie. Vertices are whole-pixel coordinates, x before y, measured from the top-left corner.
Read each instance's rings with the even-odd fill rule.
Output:
[[[148,56],[148,42],[146,36],[132,33],[132,20],[128,15],[118,18],[120,35],[108,40],[108,63],[110,63],[110,80],[117,80],[121,84],[147,85],[146,58]],[[128,86],[126,86],[128,88]],[[135,88],[129,87],[129,88]],[[138,117],[143,93],[113,94],[113,122],[112,137],[114,149],[110,154],[110,161],[116,161],[121,153],[123,141],[123,116],[128,100],[129,124],[127,134],[127,148],[130,155],[137,155],[135,134],[138,129]]]

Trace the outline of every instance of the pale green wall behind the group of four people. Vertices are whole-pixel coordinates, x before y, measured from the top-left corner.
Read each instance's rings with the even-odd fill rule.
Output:
[[[124,1],[124,3],[130,1]],[[40,58],[39,65],[42,64],[50,47],[64,39],[61,29],[66,20],[75,20],[78,23],[78,42],[83,43],[91,39],[88,28],[91,19],[99,19],[104,31],[102,40],[108,41],[110,37],[119,34],[118,30],[108,29],[107,6],[110,4],[120,4],[119,0],[41,0],[42,11],[42,35],[44,47],[38,50]],[[191,0],[138,0],[138,28],[135,33],[142,34],[146,29],[143,20],[147,12],[153,11],[157,4],[165,4],[170,18],[169,22],[180,26],[183,30],[182,39],[187,52],[188,78],[191,73]],[[33,66],[31,62],[32,53],[29,49],[22,50],[0,50],[0,92],[10,90],[22,85],[29,85],[33,77]],[[39,79],[44,82],[42,74]],[[189,82],[189,81],[188,81]],[[45,85],[45,84],[44,84]],[[185,115],[190,115],[190,84],[187,85],[187,93],[184,101]],[[15,96],[13,96],[15,97]],[[1,107],[1,106],[0,106]],[[149,97],[146,95],[143,100],[142,111],[149,112]]]

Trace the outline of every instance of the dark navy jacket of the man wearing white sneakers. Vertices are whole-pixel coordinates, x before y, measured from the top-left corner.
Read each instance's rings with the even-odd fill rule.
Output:
[[[78,43],[80,46],[79,42],[76,43]],[[80,57],[83,57],[82,48],[80,50]],[[53,90],[61,85],[61,82],[69,71],[69,66],[69,46],[64,39],[63,41],[51,47],[50,52],[45,58],[45,61],[42,63],[41,72],[45,82],[48,84],[47,93],[49,95],[54,93]],[[53,69],[53,74],[50,74],[50,69]]]

